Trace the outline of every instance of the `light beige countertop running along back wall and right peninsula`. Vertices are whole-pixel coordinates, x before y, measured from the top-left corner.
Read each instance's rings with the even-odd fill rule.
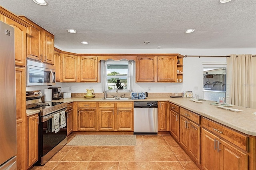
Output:
[[[224,109],[220,109],[217,106],[210,105],[209,103],[214,103],[213,101],[202,101],[202,103],[196,103],[190,101],[191,98],[170,98],[170,97],[147,97],[146,99],[140,100],[103,100],[103,97],[94,97],[94,98],[84,98],[84,97],[72,97],[70,99],[60,99],[60,102],[85,102],[85,101],[104,101],[104,102],[127,102],[127,101],[169,101],[180,107],[188,109],[194,113],[202,115],[208,119],[226,125],[227,127],[233,128],[245,134],[256,136],[256,115],[253,113],[256,112],[256,109],[250,109],[240,106],[232,106],[233,109],[239,109],[242,111],[233,112]],[[38,111],[38,112],[37,112]],[[33,112],[33,113],[32,113]],[[27,116],[39,113],[39,110],[26,110]]]

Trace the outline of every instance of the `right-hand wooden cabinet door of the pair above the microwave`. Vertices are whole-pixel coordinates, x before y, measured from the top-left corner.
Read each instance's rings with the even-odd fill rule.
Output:
[[[54,64],[54,35],[44,30],[43,38],[43,62],[48,64]]]

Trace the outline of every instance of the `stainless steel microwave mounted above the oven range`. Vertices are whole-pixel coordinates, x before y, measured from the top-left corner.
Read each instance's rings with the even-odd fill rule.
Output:
[[[55,66],[33,61],[26,60],[26,85],[55,85]]]

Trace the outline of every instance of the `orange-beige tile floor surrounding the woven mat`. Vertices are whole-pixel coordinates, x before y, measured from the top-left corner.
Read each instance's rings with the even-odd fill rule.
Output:
[[[64,146],[44,166],[32,170],[198,170],[170,135],[137,135],[136,142],[136,146]]]

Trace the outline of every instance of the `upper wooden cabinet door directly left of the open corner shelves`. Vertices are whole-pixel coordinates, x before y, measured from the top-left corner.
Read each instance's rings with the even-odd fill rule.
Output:
[[[173,82],[176,81],[177,60],[176,56],[157,57],[157,81]]]

